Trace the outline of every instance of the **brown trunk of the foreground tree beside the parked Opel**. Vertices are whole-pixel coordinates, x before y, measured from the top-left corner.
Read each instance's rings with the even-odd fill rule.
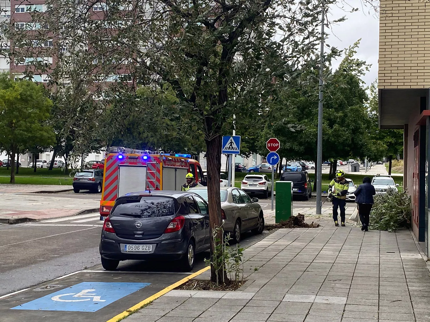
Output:
[[[211,257],[212,263],[219,262],[218,258],[214,258],[215,246],[222,242],[223,230],[221,229],[217,236],[217,240],[212,238],[213,231],[217,227],[221,227],[221,197],[220,197],[220,172],[221,172],[221,136],[218,135],[212,140],[206,140],[206,162],[207,162],[207,187],[208,187],[208,204],[209,204],[209,226],[211,236]],[[214,283],[229,283],[227,272],[225,271],[225,263],[221,263],[221,267],[215,270],[211,264],[211,281]]]

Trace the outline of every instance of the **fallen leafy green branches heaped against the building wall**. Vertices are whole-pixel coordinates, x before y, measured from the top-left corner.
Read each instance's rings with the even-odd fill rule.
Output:
[[[369,228],[395,231],[411,227],[411,197],[406,191],[389,189],[374,197],[375,204],[369,217]]]

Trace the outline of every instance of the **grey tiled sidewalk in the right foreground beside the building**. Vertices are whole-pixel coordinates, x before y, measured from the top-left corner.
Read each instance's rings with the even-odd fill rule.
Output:
[[[279,229],[244,254],[238,291],[174,290],[124,321],[430,321],[429,270],[409,231]]]

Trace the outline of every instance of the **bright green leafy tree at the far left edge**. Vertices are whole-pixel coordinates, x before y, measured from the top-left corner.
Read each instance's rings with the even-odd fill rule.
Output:
[[[43,85],[15,82],[0,75],[0,145],[11,157],[10,183],[15,183],[15,155],[20,147],[46,147],[54,133],[46,124],[52,102],[44,96]]]

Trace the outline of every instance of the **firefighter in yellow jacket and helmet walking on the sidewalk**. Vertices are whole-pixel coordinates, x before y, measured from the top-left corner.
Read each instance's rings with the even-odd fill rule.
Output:
[[[329,197],[333,203],[333,220],[338,226],[338,208],[341,210],[341,225],[345,227],[345,206],[348,193],[349,182],[345,179],[343,170],[336,170],[336,178],[329,184]]]

